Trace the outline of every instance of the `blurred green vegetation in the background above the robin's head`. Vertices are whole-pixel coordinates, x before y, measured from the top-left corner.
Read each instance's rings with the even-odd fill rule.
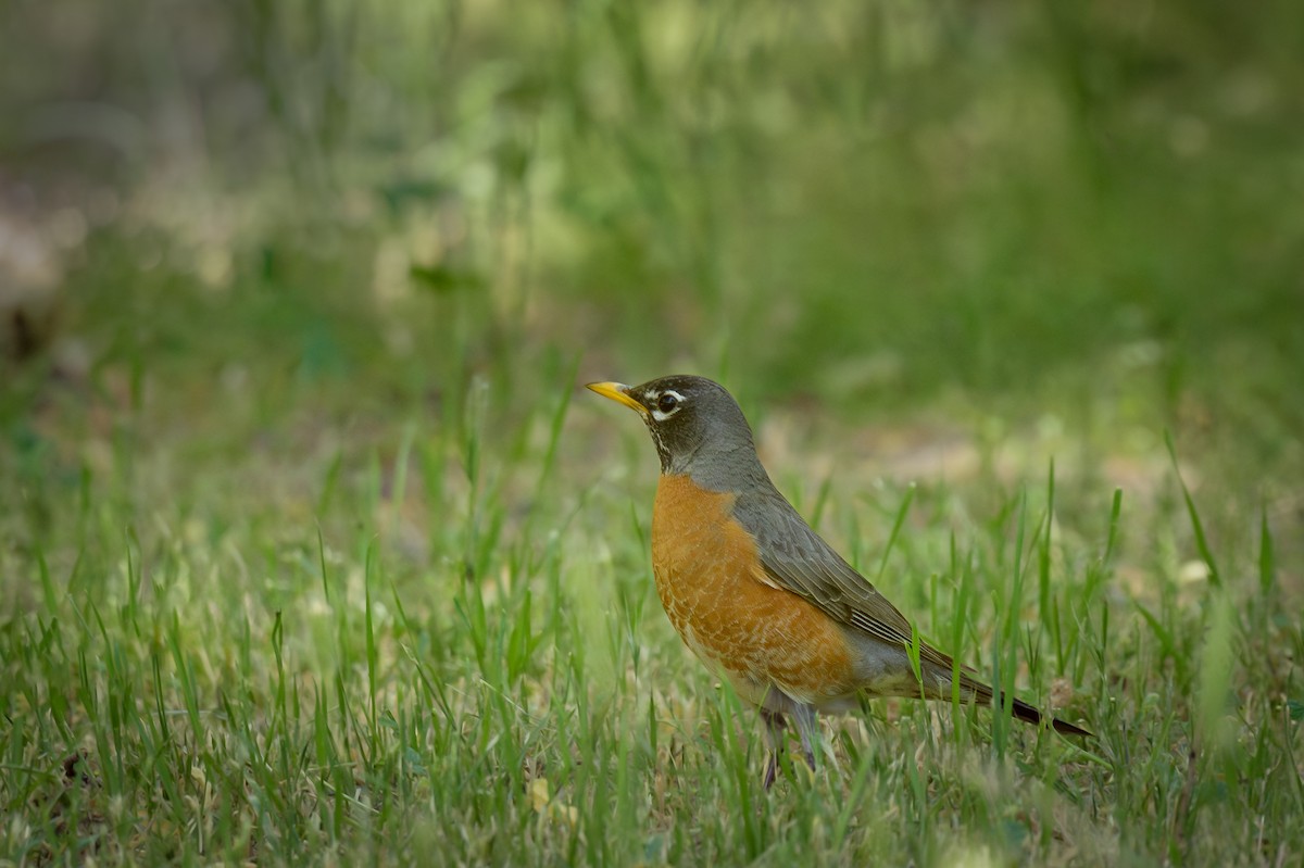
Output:
[[[0,23],[10,451],[68,381],[222,441],[304,404],[451,418],[476,377],[510,418],[578,366],[853,424],[1048,417],[1102,454],[1168,427],[1247,503],[1300,478],[1296,3]]]

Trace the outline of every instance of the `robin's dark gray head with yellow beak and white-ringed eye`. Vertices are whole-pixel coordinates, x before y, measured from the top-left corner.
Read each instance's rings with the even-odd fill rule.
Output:
[[[642,386],[588,387],[638,411],[652,433],[662,473],[686,473],[704,487],[729,491],[768,480],[756,457],[751,426],[724,386],[674,374]]]

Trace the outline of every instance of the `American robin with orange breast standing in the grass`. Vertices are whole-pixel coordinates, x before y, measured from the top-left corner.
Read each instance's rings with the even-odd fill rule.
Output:
[[[918,641],[896,606],[846,563],[769,481],[738,403],[703,377],[642,386],[589,383],[638,411],[652,433],[661,478],[652,510],[657,594],[685,644],[760,709],[769,787],[788,718],[814,768],[819,712],[845,712],[865,696],[949,700],[952,659]],[[960,697],[991,704],[992,691],[960,670]],[[1013,714],[1041,723],[1031,705]],[[1090,735],[1058,718],[1072,735]]]

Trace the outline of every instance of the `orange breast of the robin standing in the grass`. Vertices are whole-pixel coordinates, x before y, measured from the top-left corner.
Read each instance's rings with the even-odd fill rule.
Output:
[[[662,476],[652,512],[652,567],[670,623],[741,696],[771,686],[803,702],[855,689],[846,637],[802,597],[762,580],[756,545],[732,517],[733,495]]]

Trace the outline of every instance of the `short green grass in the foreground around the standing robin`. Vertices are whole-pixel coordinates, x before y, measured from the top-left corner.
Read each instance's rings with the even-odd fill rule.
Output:
[[[520,433],[472,387],[458,426],[398,414],[335,454],[179,476],[163,435],[48,482],[50,528],[7,554],[5,858],[1253,864],[1304,843],[1304,636],[1270,523],[1197,542],[1175,474],[1149,507],[1074,510],[1058,474],[840,477],[825,532],[925,635],[1030,700],[1071,686],[1098,740],[874,702],[825,723],[836,762],[765,794],[754,712],[651,590],[640,426],[553,373]],[[287,464],[303,486],[261,495]]]

